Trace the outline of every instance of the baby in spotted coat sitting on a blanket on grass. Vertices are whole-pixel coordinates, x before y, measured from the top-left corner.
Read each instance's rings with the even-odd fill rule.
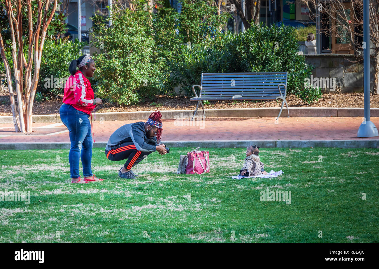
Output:
[[[259,147],[256,145],[246,148],[245,163],[240,171],[241,176],[267,175],[263,163],[259,160]]]

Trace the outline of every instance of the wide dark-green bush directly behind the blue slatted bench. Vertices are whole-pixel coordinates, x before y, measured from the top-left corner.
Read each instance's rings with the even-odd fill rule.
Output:
[[[191,85],[200,83],[201,73],[222,72],[288,72],[287,93],[296,93],[313,69],[297,52],[294,28],[253,24],[237,36],[220,34],[209,44],[182,46],[182,57],[170,66],[173,79],[189,95]]]

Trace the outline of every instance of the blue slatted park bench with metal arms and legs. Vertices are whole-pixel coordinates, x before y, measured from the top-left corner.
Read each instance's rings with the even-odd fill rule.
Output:
[[[197,101],[196,110],[192,120],[201,105],[205,117],[203,100],[277,100],[282,99],[282,107],[276,119],[279,119],[283,105],[287,107],[285,96],[287,93],[287,72],[270,73],[202,73],[201,85],[193,85],[195,97],[191,101]],[[200,88],[197,95],[195,87]],[[282,89],[280,89],[282,87]],[[283,94],[284,91],[284,94]]]

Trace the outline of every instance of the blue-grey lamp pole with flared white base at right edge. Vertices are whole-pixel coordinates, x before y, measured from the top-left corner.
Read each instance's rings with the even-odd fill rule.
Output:
[[[370,0],[363,0],[363,94],[365,117],[358,129],[358,137],[378,136],[378,130],[370,121]]]

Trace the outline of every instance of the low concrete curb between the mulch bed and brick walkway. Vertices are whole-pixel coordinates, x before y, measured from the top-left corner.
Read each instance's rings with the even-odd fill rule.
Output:
[[[206,109],[207,117],[276,117],[280,108],[233,108],[233,109]],[[290,107],[291,117],[363,117],[363,108],[356,107]],[[371,117],[379,117],[379,108],[371,108]],[[97,121],[139,121],[146,120],[152,111],[107,112],[97,113]],[[163,110],[162,119],[178,119],[192,117],[193,110]],[[202,116],[201,108],[198,115]],[[92,115],[94,116],[94,115]],[[280,117],[287,117],[283,108]],[[33,122],[61,122],[59,114],[32,115]],[[13,123],[12,116],[0,116],[0,124]]]

